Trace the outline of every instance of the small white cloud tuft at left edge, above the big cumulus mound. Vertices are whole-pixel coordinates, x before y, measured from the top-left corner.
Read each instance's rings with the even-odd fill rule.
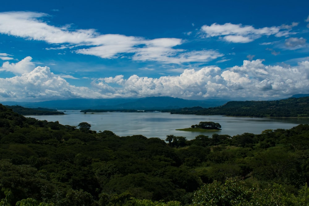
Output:
[[[33,67],[34,63],[31,62],[32,57],[25,57],[23,60],[15,63],[9,63],[8,61],[2,64],[0,67],[0,71],[8,71],[14,74],[24,74],[30,72]]]

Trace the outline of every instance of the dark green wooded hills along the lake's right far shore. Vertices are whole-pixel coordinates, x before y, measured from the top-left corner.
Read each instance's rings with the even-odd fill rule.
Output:
[[[276,101],[231,101],[219,107],[191,107],[164,110],[171,114],[228,115],[254,117],[302,117],[309,116],[309,97]]]

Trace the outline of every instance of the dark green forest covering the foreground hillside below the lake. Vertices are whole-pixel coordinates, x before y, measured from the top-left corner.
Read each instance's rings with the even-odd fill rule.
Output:
[[[119,137],[0,104],[0,205],[309,205],[309,125]]]

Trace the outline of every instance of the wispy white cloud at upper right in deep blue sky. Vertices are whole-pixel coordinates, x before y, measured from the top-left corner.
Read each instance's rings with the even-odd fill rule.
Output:
[[[263,27],[254,28],[253,26],[242,24],[217,24],[213,23],[210,26],[204,25],[201,27],[201,32],[205,33],[205,37],[219,36],[227,42],[233,43],[248,43],[260,38],[261,36],[275,35],[277,37],[289,36],[295,34],[290,32],[292,27],[297,26],[298,23],[293,22],[291,25],[281,25],[278,27]]]

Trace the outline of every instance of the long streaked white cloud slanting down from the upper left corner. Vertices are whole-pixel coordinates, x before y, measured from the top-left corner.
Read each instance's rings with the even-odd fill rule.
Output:
[[[101,58],[129,57],[135,61],[159,61],[180,64],[185,62],[208,62],[221,57],[216,51],[188,52],[175,49],[183,44],[182,39],[159,38],[148,40],[142,37],[121,34],[100,34],[94,29],[73,30],[70,25],[55,27],[42,19],[47,14],[37,12],[0,13],[0,33],[18,36],[28,40],[40,40],[56,44],[50,49],[74,49],[78,54]]]

